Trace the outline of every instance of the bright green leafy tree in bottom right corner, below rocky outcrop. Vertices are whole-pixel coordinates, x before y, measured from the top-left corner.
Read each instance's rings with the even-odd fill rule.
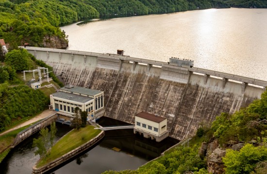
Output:
[[[242,147],[240,152],[227,149],[225,157],[222,158],[226,174],[250,174],[258,162],[265,160],[267,160],[267,147],[254,147],[249,143]]]

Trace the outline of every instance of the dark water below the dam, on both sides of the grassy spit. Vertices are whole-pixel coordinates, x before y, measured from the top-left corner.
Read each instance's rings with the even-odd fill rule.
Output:
[[[114,119],[103,117],[99,120],[102,126],[126,125]],[[67,125],[57,123],[58,140],[70,130]],[[101,174],[107,170],[135,170],[149,160],[160,156],[167,148],[178,141],[167,138],[163,142],[154,142],[135,136],[133,129],[105,131],[104,139],[89,151],[68,161],[61,168],[51,171],[54,174]],[[39,159],[34,156],[32,147],[34,134],[15,147],[0,164],[3,174],[30,174],[32,167]]]

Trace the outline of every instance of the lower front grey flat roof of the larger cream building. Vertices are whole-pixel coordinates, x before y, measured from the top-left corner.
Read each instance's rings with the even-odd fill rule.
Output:
[[[63,98],[63,99],[67,99],[67,100],[70,100],[70,101],[76,101],[76,102],[79,102],[79,103],[86,103],[87,101],[90,101],[94,98],[92,97],[89,97],[89,96],[83,96],[83,95],[77,95],[77,94],[69,94],[69,93],[65,93],[65,92],[62,92],[62,91],[59,91],[57,93],[53,93],[51,94],[55,97],[58,97],[58,98]]]

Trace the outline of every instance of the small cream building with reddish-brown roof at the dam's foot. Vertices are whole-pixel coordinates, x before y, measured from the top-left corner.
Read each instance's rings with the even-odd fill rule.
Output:
[[[167,118],[147,112],[140,112],[135,115],[134,134],[140,134],[145,138],[161,142],[169,135],[167,131]]]

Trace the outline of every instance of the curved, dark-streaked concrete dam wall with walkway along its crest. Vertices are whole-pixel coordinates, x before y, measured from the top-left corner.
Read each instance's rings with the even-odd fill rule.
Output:
[[[65,84],[104,91],[105,116],[130,124],[141,111],[162,116],[168,120],[169,135],[178,140],[194,135],[200,124],[210,124],[221,112],[233,113],[248,106],[267,86],[267,81],[178,63],[63,49],[26,49],[52,66]]]

